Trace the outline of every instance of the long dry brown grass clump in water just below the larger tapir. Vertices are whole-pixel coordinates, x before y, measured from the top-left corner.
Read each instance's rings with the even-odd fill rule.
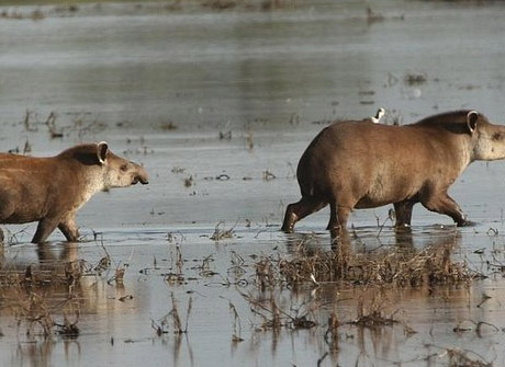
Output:
[[[356,253],[346,244],[336,250],[310,252],[300,246],[294,254],[259,257],[256,278],[261,288],[276,285],[296,286],[303,282],[345,282],[351,285],[456,285],[469,282],[474,274],[463,262],[451,259],[453,243],[430,245],[420,251],[394,248]]]

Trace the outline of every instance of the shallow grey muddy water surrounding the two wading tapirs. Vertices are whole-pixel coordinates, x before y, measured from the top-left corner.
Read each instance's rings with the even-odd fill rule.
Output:
[[[383,290],[382,308],[401,323],[346,324],[357,317],[358,299],[371,300],[377,289],[306,282],[296,291],[260,294],[256,287],[257,256],[288,256],[300,241],[328,248],[326,210],[298,227],[315,236],[278,231],[285,205],[299,198],[298,159],[327,121],[369,116],[379,106],[402,123],[474,107],[502,123],[503,4],[383,1],[374,21],[367,20],[368,5],[3,5],[1,150],[52,154],[106,140],[143,163],[152,182],[97,195],[78,216],[85,234],[78,245],[61,244],[55,232],[40,248],[27,243],[34,226],[7,228],[4,268],[32,264],[64,274],[61,266],[81,262],[85,276],[71,291],[68,284],[48,287],[44,298],[57,323],[64,312],[70,322],[79,312],[77,339],[43,337],[37,325],[27,335],[20,309],[26,296],[2,289],[0,365],[447,366],[454,351],[502,365],[503,162],[474,163],[451,191],[476,227],[456,229],[416,208],[412,237],[399,239],[388,208],[352,215],[352,251],[407,246],[415,253],[450,242],[456,261],[489,276],[468,287]],[[50,112],[63,138],[50,138]],[[211,237],[220,222],[233,237],[216,242]],[[112,263],[100,268],[105,255]],[[125,269],[122,283],[115,268]],[[316,302],[311,318],[318,325],[262,330],[265,320],[244,295],[274,297],[291,316]],[[188,329],[179,336],[171,329],[172,297]],[[333,310],[343,326],[330,345],[325,332]],[[167,333],[158,335],[158,326]]]

